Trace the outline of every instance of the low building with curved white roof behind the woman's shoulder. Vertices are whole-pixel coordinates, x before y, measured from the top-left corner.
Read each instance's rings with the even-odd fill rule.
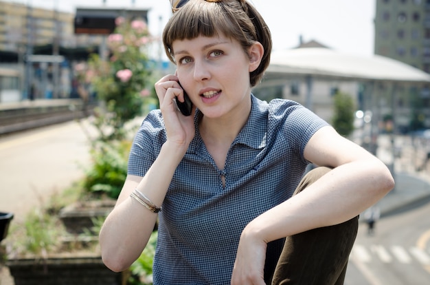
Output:
[[[367,114],[370,138],[383,131],[405,133],[430,127],[425,92],[430,74],[386,56],[356,56],[315,41],[278,50],[253,94],[266,101],[287,98],[331,122],[333,98],[349,94],[356,110]],[[418,104],[420,102],[420,104]],[[359,123],[359,122],[358,122]],[[362,124],[361,124],[362,125]]]

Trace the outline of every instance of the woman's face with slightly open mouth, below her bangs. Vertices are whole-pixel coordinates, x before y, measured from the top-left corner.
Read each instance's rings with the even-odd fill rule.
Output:
[[[225,36],[199,36],[174,41],[172,48],[179,81],[205,117],[248,116],[249,72],[256,67],[238,41]]]

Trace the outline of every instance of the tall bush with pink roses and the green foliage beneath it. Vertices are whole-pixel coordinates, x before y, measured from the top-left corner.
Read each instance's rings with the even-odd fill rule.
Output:
[[[158,102],[148,61],[151,39],[146,23],[120,17],[116,24],[114,34],[106,39],[109,54],[92,54],[87,63],[74,69],[81,97],[91,90],[102,103],[90,120],[98,136],[91,141],[93,165],[87,170],[84,189],[109,198],[117,198],[127,173],[129,147],[125,146],[130,145],[131,129],[124,125],[141,115],[146,105]]]

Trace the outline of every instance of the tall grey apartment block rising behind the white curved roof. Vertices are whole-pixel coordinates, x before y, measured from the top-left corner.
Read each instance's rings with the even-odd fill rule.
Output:
[[[376,0],[374,53],[430,73],[430,0]],[[398,131],[430,127],[430,85],[376,85]]]

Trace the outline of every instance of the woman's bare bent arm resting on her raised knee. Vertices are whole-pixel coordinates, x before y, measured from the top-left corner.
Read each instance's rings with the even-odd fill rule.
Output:
[[[310,138],[304,157],[315,165],[333,169],[306,191],[262,213],[245,227],[235,271],[240,268],[246,271],[246,267],[249,270],[249,264],[238,264],[241,260],[249,260],[249,248],[257,247],[261,255],[265,253],[263,247],[267,242],[350,220],[394,188],[392,174],[381,160],[337,134],[332,127],[322,127]],[[262,256],[253,258],[264,262]],[[235,271],[234,276],[238,273]]]

